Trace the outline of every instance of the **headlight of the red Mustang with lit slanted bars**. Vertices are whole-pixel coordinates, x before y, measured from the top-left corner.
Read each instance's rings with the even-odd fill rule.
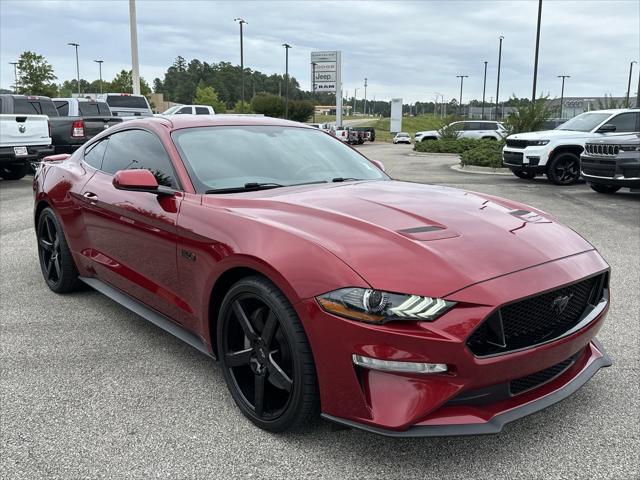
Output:
[[[362,322],[382,324],[391,320],[430,322],[455,302],[441,298],[382,292],[368,288],[341,288],[316,297],[329,313]]]

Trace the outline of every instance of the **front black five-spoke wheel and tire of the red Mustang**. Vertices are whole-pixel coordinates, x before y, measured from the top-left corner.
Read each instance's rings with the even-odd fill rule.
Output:
[[[295,310],[271,282],[248,277],[231,287],[217,333],[227,386],[253,423],[280,432],[317,416],[311,349]]]

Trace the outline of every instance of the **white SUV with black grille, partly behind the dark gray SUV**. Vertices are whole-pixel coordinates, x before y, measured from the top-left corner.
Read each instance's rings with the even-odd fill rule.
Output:
[[[580,179],[580,154],[588,140],[638,131],[640,109],[585,112],[555,130],[509,135],[502,163],[516,177],[544,173],[556,185],[571,185]]]

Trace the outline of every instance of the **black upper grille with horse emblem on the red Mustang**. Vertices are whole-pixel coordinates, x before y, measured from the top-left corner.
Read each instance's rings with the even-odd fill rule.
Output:
[[[598,304],[605,286],[602,274],[504,305],[480,324],[467,346],[482,357],[558,338],[580,323],[587,307]]]

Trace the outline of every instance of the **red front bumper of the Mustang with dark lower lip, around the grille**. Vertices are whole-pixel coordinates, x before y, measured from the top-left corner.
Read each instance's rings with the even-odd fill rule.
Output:
[[[447,297],[458,302],[435,322],[367,325],[331,315],[315,299],[296,306],[315,358],[323,417],[393,436],[495,433],[505,423],[566,398],[610,360],[595,341],[606,312],[556,340],[491,357],[477,357],[466,342],[499,305],[604,272],[595,251],[498,277]],[[381,360],[442,363],[447,373],[402,374],[354,366],[352,355]],[[487,389],[575,359],[559,376],[509,398],[460,403]],[[464,395],[463,395],[464,394]]]

